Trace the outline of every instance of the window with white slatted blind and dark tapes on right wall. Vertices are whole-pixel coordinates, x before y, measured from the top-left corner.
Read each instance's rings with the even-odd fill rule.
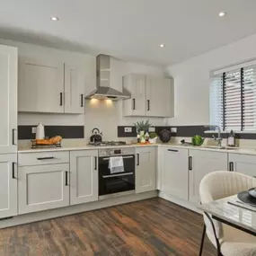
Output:
[[[210,122],[224,131],[256,132],[256,61],[213,73]]]

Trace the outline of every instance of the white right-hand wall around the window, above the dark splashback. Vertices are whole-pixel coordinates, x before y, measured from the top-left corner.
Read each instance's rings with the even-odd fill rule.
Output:
[[[256,57],[256,34],[222,48],[168,66],[174,78],[175,117],[170,125],[204,125],[209,123],[210,71]]]

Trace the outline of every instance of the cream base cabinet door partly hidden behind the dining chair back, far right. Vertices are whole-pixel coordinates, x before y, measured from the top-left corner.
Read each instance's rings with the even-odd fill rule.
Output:
[[[250,154],[229,154],[229,163],[234,172],[240,172],[256,178],[256,157]]]

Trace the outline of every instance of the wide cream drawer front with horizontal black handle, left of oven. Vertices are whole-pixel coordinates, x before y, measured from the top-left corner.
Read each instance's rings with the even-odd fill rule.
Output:
[[[69,163],[69,152],[40,152],[18,155],[19,166],[42,165],[51,163]]]

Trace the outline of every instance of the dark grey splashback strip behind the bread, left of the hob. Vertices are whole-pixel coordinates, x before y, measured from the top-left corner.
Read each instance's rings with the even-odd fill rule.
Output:
[[[36,126],[18,126],[18,139],[33,139],[32,128]],[[84,138],[84,126],[45,126],[45,136],[63,138]]]

